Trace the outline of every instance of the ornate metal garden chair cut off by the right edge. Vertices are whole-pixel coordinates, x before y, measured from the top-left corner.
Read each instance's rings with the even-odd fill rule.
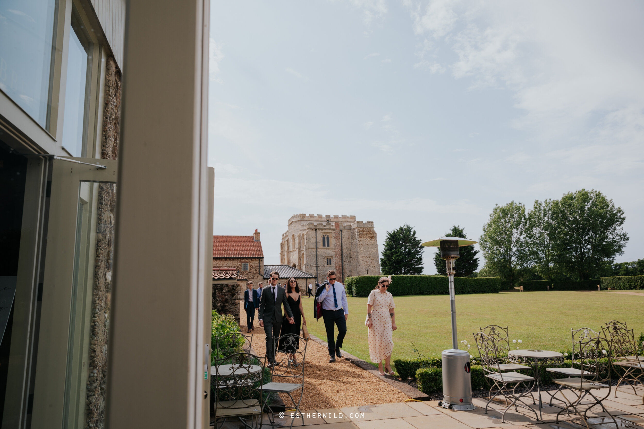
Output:
[[[606,326],[601,327],[604,335],[611,340],[612,354],[611,362],[613,367],[617,366],[623,370],[614,397],[617,397],[617,389],[622,381],[626,381],[632,387],[634,394],[638,394],[635,383],[642,383],[644,375],[644,357],[638,356],[638,347],[633,329],[627,329],[626,324],[617,320],[611,320]],[[618,372],[616,370],[615,372]],[[642,395],[644,404],[644,394]]]

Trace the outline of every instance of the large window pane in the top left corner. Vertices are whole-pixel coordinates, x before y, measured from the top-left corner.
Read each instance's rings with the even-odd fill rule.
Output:
[[[0,89],[45,128],[57,3],[0,1]]]

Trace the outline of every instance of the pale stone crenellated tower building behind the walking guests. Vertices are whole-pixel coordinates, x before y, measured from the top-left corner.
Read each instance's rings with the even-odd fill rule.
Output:
[[[292,215],[279,248],[281,264],[316,275],[318,282],[329,269],[341,282],[352,275],[380,275],[379,256],[374,223],[346,215]]]

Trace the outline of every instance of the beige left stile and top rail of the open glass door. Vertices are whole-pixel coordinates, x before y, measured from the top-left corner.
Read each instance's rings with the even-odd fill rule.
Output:
[[[107,168],[100,169],[65,160],[52,161],[47,250],[33,395],[32,427],[37,428],[63,427],[80,185],[82,181],[116,183],[118,176],[117,160],[66,158],[84,163],[100,163]],[[89,344],[84,351],[85,359],[88,348]]]

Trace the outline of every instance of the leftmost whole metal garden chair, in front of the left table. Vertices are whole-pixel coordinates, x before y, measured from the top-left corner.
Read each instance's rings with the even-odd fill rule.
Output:
[[[210,423],[217,429],[236,418],[246,428],[261,428],[266,357],[240,352],[216,358],[214,363],[211,373],[214,420]]]

